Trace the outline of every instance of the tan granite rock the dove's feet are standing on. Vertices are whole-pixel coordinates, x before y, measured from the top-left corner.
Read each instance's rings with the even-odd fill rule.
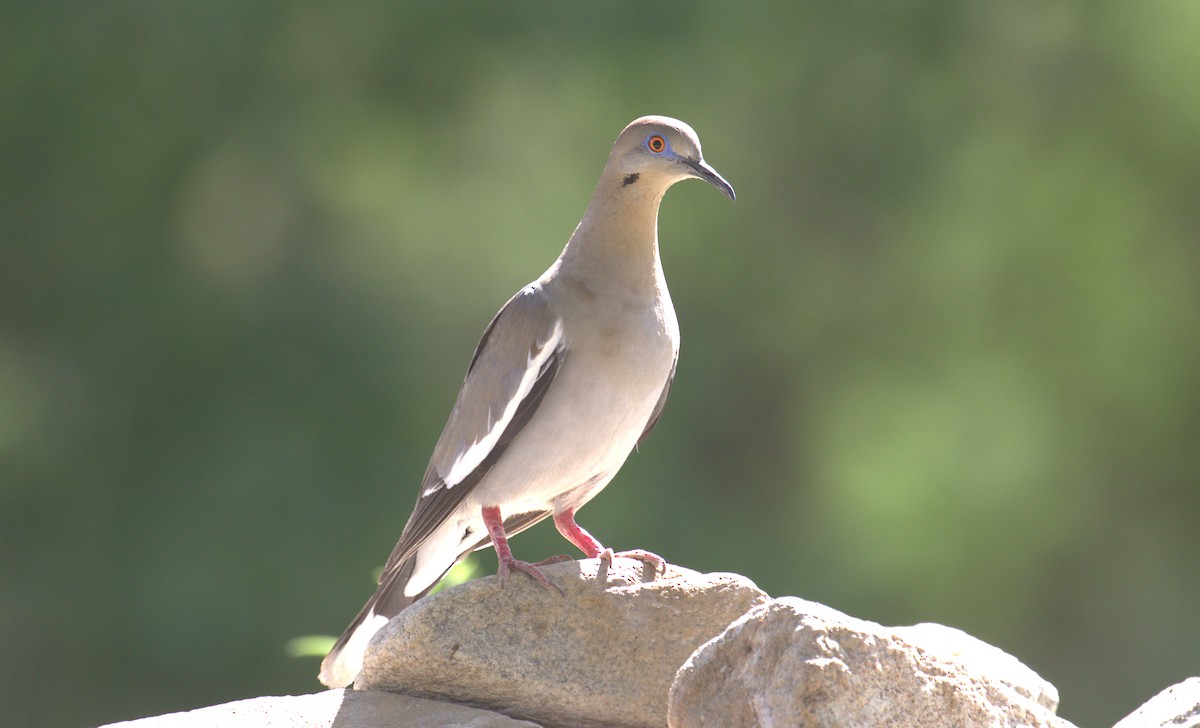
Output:
[[[767,595],[745,577],[599,559],[544,567],[559,595],[514,573],[426,597],[367,649],[358,690],[481,705],[544,726],[666,724],[676,670]]]

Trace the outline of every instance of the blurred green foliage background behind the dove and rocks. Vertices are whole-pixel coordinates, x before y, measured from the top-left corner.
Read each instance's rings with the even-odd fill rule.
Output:
[[[1182,0],[5,2],[4,722],[318,690],[283,645],[367,597],[648,113],[738,201],[666,199],[679,373],[581,521],[961,627],[1080,726],[1200,674],[1198,37]]]

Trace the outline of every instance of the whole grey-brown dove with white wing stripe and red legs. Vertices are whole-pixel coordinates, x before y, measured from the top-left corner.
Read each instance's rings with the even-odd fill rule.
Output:
[[[616,475],[666,402],[679,326],[659,259],[658,212],[667,188],[689,178],[734,197],[686,124],[643,116],[617,138],[563,253],[484,331],[416,507],[378,590],[322,663],[322,682],[352,682],[371,636],[475,548],[494,542],[502,578],[517,568],[548,584],[511,558],[505,536],[553,516],[588,556],[605,552],[574,515]]]

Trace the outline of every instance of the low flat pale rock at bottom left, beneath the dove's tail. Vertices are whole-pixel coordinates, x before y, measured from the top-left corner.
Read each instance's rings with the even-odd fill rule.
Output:
[[[101,728],[538,728],[498,712],[383,692],[326,690],[311,696],[251,698]]]

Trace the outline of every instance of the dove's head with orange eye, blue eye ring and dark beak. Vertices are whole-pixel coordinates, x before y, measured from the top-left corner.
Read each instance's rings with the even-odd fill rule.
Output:
[[[608,166],[623,188],[634,188],[630,192],[661,194],[671,185],[694,178],[736,199],[733,187],[704,161],[696,132],[670,116],[642,116],[626,126],[613,144]]]

